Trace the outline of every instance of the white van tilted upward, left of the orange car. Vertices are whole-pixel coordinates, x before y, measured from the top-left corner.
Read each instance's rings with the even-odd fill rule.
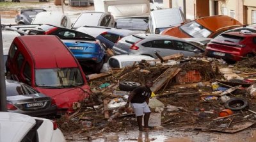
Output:
[[[182,22],[186,22],[186,19],[179,8],[154,10],[149,16],[149,32],[158,34],[164,29],[179,26]]]

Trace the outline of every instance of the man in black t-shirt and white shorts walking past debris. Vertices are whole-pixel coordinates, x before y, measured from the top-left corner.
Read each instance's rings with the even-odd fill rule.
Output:
[[[125,107],[129,107],[129,103],[131,102],[131,107],[134,111],[134,113],[137,116],[137,122],[139,125],[139,130],[143,131],[142,127],[142,117],[143,113],[144,115],[144,129],[148,130],[148,120],[150,116],[150,109],[148,107],[149,98],[151,96],[152,91],[150,90],[150,87],[152,87],[153,82],[147,81],[145,86],[140,86],[136,89],[134,89],[128,97],[127,104]]]

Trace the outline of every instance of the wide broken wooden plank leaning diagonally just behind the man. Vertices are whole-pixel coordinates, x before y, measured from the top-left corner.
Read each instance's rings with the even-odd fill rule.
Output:
[[[168,79],[172,79],[180,72],[181,68],[168,68],[163,74],[161,74],[157,79],[154,81],[153,86],[150,88],[151,91],[156,93],[160,90],[164,84],[168,81]]]

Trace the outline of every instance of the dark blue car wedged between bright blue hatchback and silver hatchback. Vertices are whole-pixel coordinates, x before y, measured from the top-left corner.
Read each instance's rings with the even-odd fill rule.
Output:
[[[101,33],[96,38],[104,43],[107,48],[112,49],[115,43],[123,38],[124,36],[132,35],[133,33],[138,33],[128,29],[109,29],[108,31]]]

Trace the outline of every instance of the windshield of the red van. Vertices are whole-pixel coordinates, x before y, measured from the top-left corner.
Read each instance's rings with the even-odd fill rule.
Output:
[[[36,86],[70,87],[84,84],[79,68],[47,68],[35,70]]]

